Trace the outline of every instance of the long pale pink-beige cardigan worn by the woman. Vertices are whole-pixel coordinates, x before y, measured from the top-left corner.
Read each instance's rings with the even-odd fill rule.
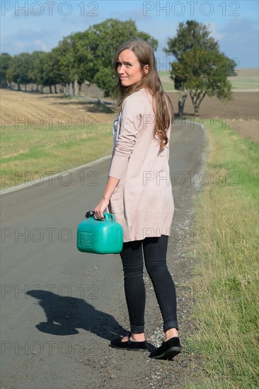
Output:
[[[171,126],[167,136],[170,139]],[[152,95],[142,88],[122,104],[108,175],[120,180],[108,211],[123,228],[123,241],[170,236],[173,193],[169,149],[154,139]]]

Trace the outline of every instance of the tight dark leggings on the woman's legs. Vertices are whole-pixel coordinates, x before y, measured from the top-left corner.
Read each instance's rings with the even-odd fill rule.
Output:
[[[144,332],[144,310],[146,291],[143,279],[143,253],[146,271],[154,286],[157,301],[163,317],[163,331],[178,330],[176,317],[175,285],[166,265],[168,236],[145,238],[123,243],[122,265],[125,281],[125,296],[129,311],[130,329]]]

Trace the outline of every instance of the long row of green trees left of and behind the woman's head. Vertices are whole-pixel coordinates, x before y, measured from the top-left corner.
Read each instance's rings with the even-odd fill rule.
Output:
[[[94,83],[104,96],[113,94],[115,74],[113,72],[113,56],[122,42],[132,38],[148,41],[157,50],[158,41],[142,31],[137,30],[134,21],[108,19],[103,23],[92,25],[84,32],[71,33],[50,52],[35,51],[32,54],[21,53],[11,57],[1,54],[1,85],[12,81],[21,84],[35,83],[39,86],[52,86],[55,92],[57,84],[71,85],[75,81]],[[75,89],[71,94],[76,94]]]

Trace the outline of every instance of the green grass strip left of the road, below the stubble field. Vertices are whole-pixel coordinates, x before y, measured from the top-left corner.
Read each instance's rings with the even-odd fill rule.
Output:
[[[6,127],[1,130],[1,190],[84,165],[112,149],[113,124]]]

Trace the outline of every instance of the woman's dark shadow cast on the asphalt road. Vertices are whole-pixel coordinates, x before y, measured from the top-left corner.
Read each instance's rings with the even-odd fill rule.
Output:
[[[127,331],[108,313],[96,310],[82,298],[59,296],[50,291],[32,290],[26,292],[38,298],[45,310],[47,322],[36,325],[38,330],[52,335],[74,335],[83,328],[104,339],[114,339],[115,335]]]

